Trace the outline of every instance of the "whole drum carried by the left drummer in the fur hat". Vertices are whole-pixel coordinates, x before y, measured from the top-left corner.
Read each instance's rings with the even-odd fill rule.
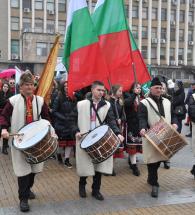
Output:
[[[51,135],[50,122],[44,119],[21,128],[13,139],[13,145],[26,155],[26,161],[30,164],[45,161],[58,147],[57,136]]]

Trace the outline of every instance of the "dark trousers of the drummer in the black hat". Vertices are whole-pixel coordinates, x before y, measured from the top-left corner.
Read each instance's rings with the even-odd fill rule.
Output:
[[[148,180],[152,186],[159,186],[158,184],[158,168],[160,167],[160,161],[156,163],[147,164],[148,167]]]

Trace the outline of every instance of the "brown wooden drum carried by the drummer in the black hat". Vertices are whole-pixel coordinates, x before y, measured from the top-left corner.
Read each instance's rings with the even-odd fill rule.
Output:
[[[147,131],[145,137],[166,159],[188,144],[163,118]]]

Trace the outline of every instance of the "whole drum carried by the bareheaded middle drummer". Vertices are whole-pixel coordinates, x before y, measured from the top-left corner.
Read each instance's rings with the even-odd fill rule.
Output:
[[[112,156],[119,145],[119,138],[107,125],[95,128],[81,142],[81,148],[88,153],[92,162],[96,164]]]

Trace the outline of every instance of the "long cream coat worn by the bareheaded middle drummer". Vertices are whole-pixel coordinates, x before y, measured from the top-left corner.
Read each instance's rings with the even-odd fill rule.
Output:
[[[86,133],[90,130],[91,108],[91,101],[88,99],[78,102],[77,113],[75,114],[78,126],[74,129],[75,132],[80,131],[81,133]],[[101,100],[98,104],[97,112],[102,122],[108,124],[116,135],[120,134],[109,102]],[[98,118],[96,117],[96,125],[98,126],[99,124]],[[102,163],[93,164],[91,157],[84,149],[81,149],[81,141],[79,139],[76,140],[77,174],[79,176],[93,176],[95,175],[95,171],[111,174],[113,170],[113,156]]]

